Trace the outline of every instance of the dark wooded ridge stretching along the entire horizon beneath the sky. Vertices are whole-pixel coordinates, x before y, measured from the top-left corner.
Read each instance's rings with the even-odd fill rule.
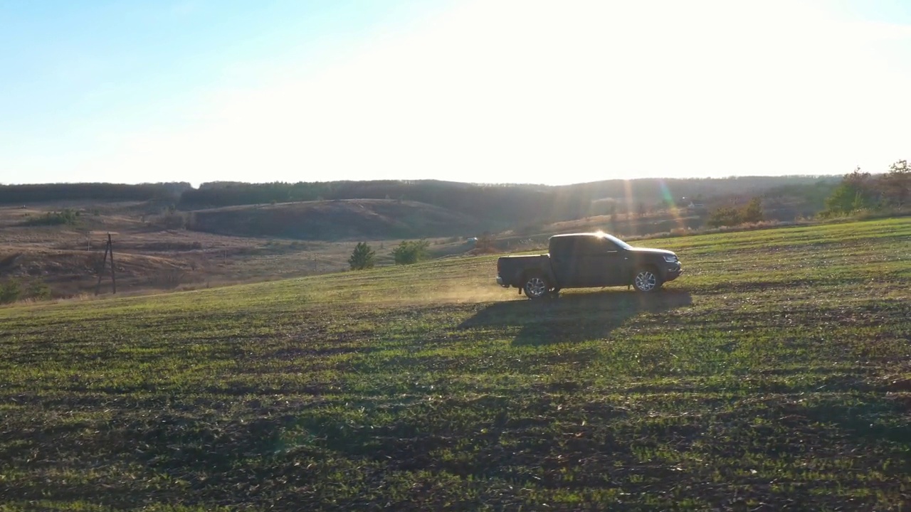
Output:
[[[690,202],[713,208],[763,197],[767,210],[813,214],[840,176],[725,179],[609,179],[567,186],[481,185],[452,181],[374,180],[298,183],[54,183],[0,186],[0,204],[61,200],[161,201],[176,210],[312,200],[408,200],[486,220],[491,228],[573,220],[609,213],[664,210]],[[770,209],[770,207],[772,207]]]

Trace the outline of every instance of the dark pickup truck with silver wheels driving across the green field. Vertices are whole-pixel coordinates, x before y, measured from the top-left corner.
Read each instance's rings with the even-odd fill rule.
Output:
[[[554,235],[549,242],[547,254],[497,260],[496,284],[518,288],[529,299],[556,295],[561,288],[632,285],[654,292],[683,271],[671,251],[632,247],[606,233]]]

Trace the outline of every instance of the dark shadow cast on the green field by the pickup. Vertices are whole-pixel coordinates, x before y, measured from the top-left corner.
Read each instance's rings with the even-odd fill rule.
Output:
[[[518,329],[513,344],[542,345],[606,338],[641,313],[667,312],[691,305],[689,292],[569,293],[558,299],[496,302],[467,319],[459,329]]]

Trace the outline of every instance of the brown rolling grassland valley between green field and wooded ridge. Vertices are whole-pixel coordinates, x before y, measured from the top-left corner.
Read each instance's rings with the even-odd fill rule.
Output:
[[[393,264],[392,250],[400,241],[422,237],[430,237],[434,258],[464,255],[474,249],[466,239],[485,230],[483,222],[458,211],[408,200],[323,200],[191,211],[165,207],[152,200],[0,205],[0,285],[13,278],[24,288],[40,282],[55,298],[94,294],[108,232],[113,233],[117,254],[118,293],[135,295],[337,272],[348,268],[359,241],[370,242],[379,265]],[[641,235],[702,222],[681,216],[661,212],[621,221],[595,216],[529,224],[494,238],[498,250],[514,251],[568,230]],[[100,292],[110,293],[105,278]]]

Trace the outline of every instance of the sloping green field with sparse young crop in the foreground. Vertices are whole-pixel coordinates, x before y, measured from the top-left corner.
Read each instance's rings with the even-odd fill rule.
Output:
[[[495,259],[0,309],[0,510],[900,510],[911,220],[642,242],[663,292]]]

